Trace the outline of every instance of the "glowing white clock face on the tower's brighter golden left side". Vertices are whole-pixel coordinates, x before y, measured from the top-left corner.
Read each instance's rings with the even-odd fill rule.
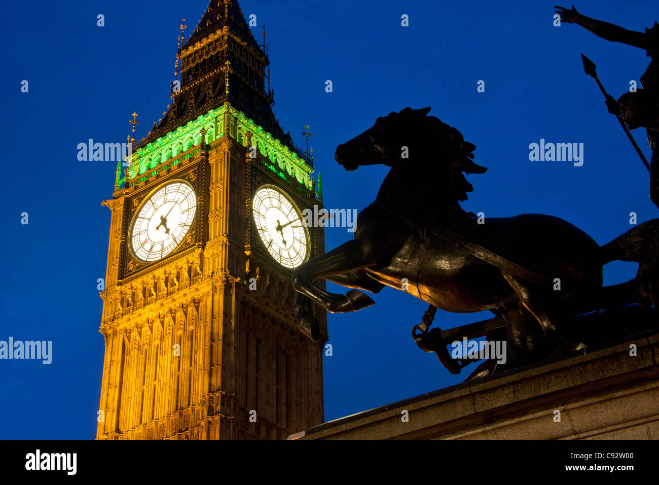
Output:
[[[157,261],[174,251],[190,231],[196,208],[194,189],[185,181],[173,181],[156,189],[132,220],[133,255],[140,261]]]

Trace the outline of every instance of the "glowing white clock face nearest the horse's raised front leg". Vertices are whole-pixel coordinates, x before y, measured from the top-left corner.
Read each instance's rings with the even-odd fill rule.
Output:
[[[287,268],[297,268],[309,255],[309,235],[295,203],[273,185],[254,194],[256,231],[268,253]]]

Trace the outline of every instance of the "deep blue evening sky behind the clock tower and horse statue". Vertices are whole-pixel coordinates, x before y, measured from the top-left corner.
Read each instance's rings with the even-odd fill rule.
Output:
[[[616,98],[630,80],[639,81],[649,58],[575,24],[554,27],[557,1],[240,4],[244,15],[266,23],[274,110],[284,130],[302,145],[310,125],[327,207],[366,207],[387,170],[345,172],[333,160],[339,143],[380,115],[432,106],[430,114],[459,129],[476,145],[474,161],[489,169],[468,176],[474,191],[465,209],[486,216],[553,214],[604,244],[630,228],[629,212],[639,222],[658,214],[648,174],[583,73],[579,53],[598,65]],[[181,18],[188,19],[189,36],[207,3],[4,5],[0,340],[53,340],[53,362],[0,360],[0,438],[95,437],[103,364],[96,284],[105,276],[110,220],[100,203],[111,198],[115,164],[78,162],[76,146],[90,138],[125,141],[134,111],[142,120],[137,138],[146,134],[169,102]],[[632,30],[659,20],[656,0],[580,1],[577,9]],[[96,26],[100,13],[103,28]],[[253,30],[258,42],[260,31]],[[28,93],[20,92],[22,80]],[[333,82],[331,93],[326,80]],[[478,80],[485,81],[484,93],[476,92]],[[634,135],[649,159],[645,132]],[[541,138],[583,143],[583,166],[529,161],[529,144]],[[28,225],[20,223],[22,212]],[[345,228],[328,228],[326,247],[350,237]],[[607,284],[621,282],[635,265],[614,263],[604,274]],[[465,377],[450,375],[411,339],[426,304],[391,288],[373,298],[376,306],[358,313],[329,315],[326,420]],[[489,315],[438,311],[436,325]]]

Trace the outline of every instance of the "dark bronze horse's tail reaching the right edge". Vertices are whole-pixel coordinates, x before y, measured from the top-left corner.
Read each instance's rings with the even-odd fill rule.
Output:
[[[635,261],[656,265],[659,257],[659,219],[643,222],[601,247],[602,265],[611,261]]]

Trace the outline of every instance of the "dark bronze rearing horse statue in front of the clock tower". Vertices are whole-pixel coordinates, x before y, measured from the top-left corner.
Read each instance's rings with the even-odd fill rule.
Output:
[[[378,293],[391,286],[445,311],[491,310],[505,321],[507,346],[518,363],[544,358],[559,344],[581,348],[581,342],[561,342],[557,335],[556,321],[577,311],[561,302],[578,295],[576,300],[597,309],[602,296],[610,297],[602,293],[602,265],[608,261],[641,261],[639,273],[654,268],[659,220],[602,247],[554,216],[479,220],[459,201],[473,191],[464,174],[487,169],[473,162],[476,147],[429,111],[389,113],[337,146],[335,160],[345,170],[372,164],[391,170],[376,200],[358,214],[353,240],[293,273],[298,323],[312,328],[315,339],[309,299],[331,313],[357,311],[374,304],[362,290]],[[332,294],[316,278],[353,290]],[[641,298],[636,282],[619,286],[622,303]],[[652,293],[646,290],[646,296]]]

